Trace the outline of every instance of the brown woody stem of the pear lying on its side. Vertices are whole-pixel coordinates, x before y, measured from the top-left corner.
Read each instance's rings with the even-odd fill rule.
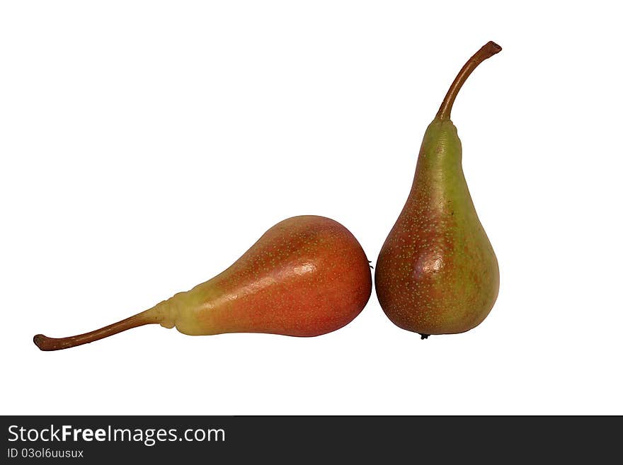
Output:
[[[69,336],[67,338],[48,338],[46,335],[38,334],[33,338],[34,343],[41,350],[61,350],[92,343],[95,340],[108,338],[108,336],[121,333],[128,329],[137,328],[152,323],[159,323],[159,318],[154,315],[153,309],[142,311],[139,314],[125,318],[103,328],[96,329],[89,333]]]

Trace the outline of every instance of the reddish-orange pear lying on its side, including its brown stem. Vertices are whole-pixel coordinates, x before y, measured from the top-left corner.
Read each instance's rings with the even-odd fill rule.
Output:
[[[38,334],[34,342],[41,350],[67,349],[150,323],[188,335],[315,336],[350,323],[371,292],[370,262],[348,229],[325,217],[292,217],[188,292],[91,333]]]

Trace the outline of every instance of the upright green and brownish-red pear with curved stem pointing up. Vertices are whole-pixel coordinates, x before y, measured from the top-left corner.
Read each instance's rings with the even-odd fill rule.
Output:
[[[467,189],[450,112],[469,74],[501,50],[488,42],[450,86],[424,134],[411,192],[377,260],[383,311],[422,338],[469,331],[498,297],[498,260]]]

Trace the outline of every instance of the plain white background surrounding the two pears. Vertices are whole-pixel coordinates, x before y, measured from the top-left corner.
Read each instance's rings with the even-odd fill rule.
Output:
[[[5,1],[4,414],[623,413],[620,12],[526,1]],[[338,220],[375,263],[421,137],[452,120],[501,292],[421,341],[373,292],[317,338],[144,326],[270,226]]]

